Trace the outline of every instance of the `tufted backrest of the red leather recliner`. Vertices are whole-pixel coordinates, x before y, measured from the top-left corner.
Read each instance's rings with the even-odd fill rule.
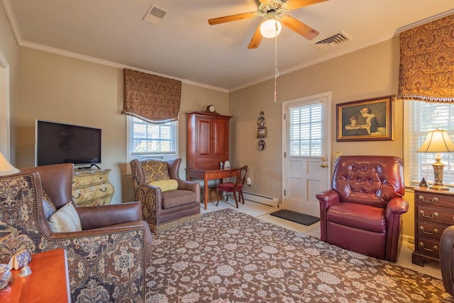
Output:
[[[336,159],[333,189],[342,202],[385,208],[404,196],[404,171],[398,157],[341,156]]]

